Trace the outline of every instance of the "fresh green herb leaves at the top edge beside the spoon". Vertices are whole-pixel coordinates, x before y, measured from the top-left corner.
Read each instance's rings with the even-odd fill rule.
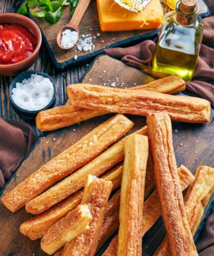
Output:
[[[17,10],[17,13],[26,15],[28,14],[28,8],[34,9],[38,7],[40,11],[33,12],[31,14],[38,18],[43,18],[49,24],[56,23],[63,15],[63,7],[71,6],[70,15],[74,14],[78,0],[25,0]]]

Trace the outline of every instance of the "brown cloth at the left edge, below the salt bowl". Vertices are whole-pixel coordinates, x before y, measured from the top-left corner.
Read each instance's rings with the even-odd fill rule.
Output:
[[[28,124],[0,118],[0,189],[19,167],[36,140]]]

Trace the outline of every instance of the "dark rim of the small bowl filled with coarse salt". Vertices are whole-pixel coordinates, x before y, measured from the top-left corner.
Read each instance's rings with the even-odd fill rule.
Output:
[[[26,110],[26,109],[20,108],[17,104],[14,103],[14,100],[13,100],[13,98],[12,98],[12,89],[11,89],[11,88],[12,88],[12,85],[13,85],[14,83],[17,83],[16,80],[17,80],[18,76],[21,76],[21,75],[26,74],[26,73],[40,74],[40,75],[42,75],[42,76],[44,76],[44,77],[46,77],[46,78],[49,78],[50,81],[51,81],[51,83],[53,84],[53,96],[52,96],[52,99],[50,100],[50,102],[48,103],[48,105],[46,105],[46,106],[45,106],[44,108],[42,108],[42,109],[38,109],[38,110]],[[24,78],[24,79],[25,79],[25,78]],[[43,72],[40,72],[40,71],[36,71],[36,70],[28,70],[28,71],[22,72],[21,74],[18,74],[18,75],[13,79],[13,81],[10,83],[10,86],[9,86],[9,98],[10,98],[10,101],[11,101],[12,105],[14,105],[15,108],[17,108],[20,112],[23,112],[23,113],[37,114],[37,113],[39,113],[39,112],[41,112],[41,111],[43,111],[43,110],[48,109],[48,108],[52,105],[53,101],[55,101],[56,96],[57,96],[57,87],[56,87],[56,84],[55,84],[55,82],[53,81],[53,79],[52,79],[48,74],[43,73]]]

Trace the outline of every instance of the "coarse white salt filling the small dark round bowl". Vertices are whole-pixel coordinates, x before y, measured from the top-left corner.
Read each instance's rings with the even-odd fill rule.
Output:
[[[53,84],[49,78],[32,74],[31,78],[16,83],[11,96],[21,109],[34,111],[46,107],[53,97],[53,92]]]

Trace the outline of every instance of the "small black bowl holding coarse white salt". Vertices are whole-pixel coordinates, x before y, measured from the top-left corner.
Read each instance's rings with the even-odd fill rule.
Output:
[[[53,97],[52,97],[50,103],[47,106],[45,106],[44,108],[39,109],[39,110],[30,111],[30,110],[22,109],[14,103],[13,98],[12,98],[12,89],[16,87],[16,83],[22,83],[22,81],[24,79],[29,79],[32,74],[38,74],[38,75],[44,76],[45,78],[49,78],[49,80],[53,84]],[[49,75],[45,74],[45,73],[38,72],[38,71],[26,71],[26,72],[23,72],[23,73],[17,75],[16,78],[10,84],[9,97],[10,97],[11,104],[12,104],[12,106],[13,106],[13,108],[16,111],[17,114],[21,115],[22,117],[24,117],[26,119],[35,119],[38,112],[40,112],[42,110],[45,110],[45,109],[49,109],[55,104],[56,85],[55,85],[55,82],[53,82],[53,80],[51,79],[51,77]]]

